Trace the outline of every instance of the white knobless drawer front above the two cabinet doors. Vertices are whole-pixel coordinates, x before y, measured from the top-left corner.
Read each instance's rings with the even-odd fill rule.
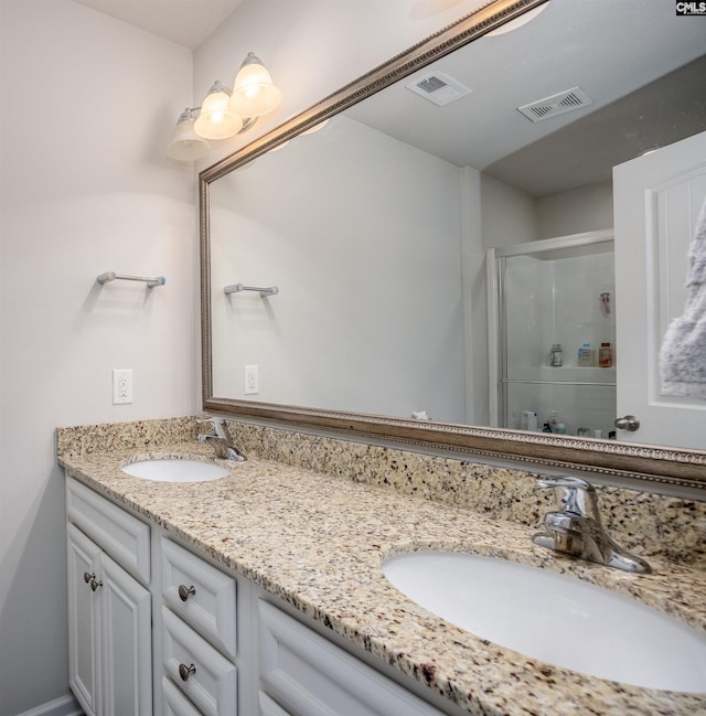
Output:
[[[150,527],[98,493],[66,478],[66,514],[121,567],[150,581]]]

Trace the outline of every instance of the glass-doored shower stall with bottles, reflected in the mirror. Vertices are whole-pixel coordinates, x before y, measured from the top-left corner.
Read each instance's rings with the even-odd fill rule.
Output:
[[[491,425],[614,437],[613,232],[488,252]]]

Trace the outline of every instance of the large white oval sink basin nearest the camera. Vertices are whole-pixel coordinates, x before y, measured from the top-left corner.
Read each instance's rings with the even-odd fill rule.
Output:
[[[395,555],[383,571],[413,601],[501,646],[600,678],[706,693],[706,635],[634,599],[468,554]]]

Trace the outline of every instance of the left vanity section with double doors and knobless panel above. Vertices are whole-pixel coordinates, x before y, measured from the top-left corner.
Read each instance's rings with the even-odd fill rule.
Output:
[[[151,597],[125,568],[149,575],[149,526],[73,481],[66,498],[69,686],[87,716],[149,716]]]

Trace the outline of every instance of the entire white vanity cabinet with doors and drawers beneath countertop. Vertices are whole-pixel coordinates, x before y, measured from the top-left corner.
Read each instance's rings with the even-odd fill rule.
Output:
[[[66,500],[69,685],[87,716],[458,713],[72,478]]]

